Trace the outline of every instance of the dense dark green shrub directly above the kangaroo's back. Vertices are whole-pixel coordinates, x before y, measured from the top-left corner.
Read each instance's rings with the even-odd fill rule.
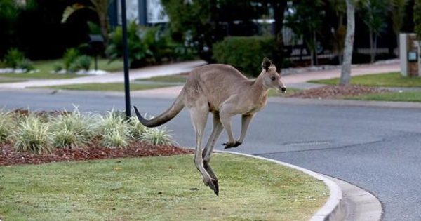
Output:
[[[244,74],[258,76],[262,72],[262,58],[272,58],[274,37],[227,37],[213,44],[213,58],[238,68]]]

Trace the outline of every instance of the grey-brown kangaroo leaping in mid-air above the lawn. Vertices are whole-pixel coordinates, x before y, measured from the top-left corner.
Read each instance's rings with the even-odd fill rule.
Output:
[[[262,62],[262,72],[257,79],[249,80],[230,65],[205,65],[189,73],[182,91],[165,112],[153,119],[145,119],[134,107],[140,123],[147,127],[160,126],[173,119],[183,107],[190,112],[196,132],[194,163],[203,177],[206,186],[218,196],[218,178],[210,168],[210,155],[222,130],[227,130],[228,141],[225,149],[238,147],[246,137],[250,121],[267,103],[269,88],[285,93],[286,87],[281,82],[281,75],[268,58]],[[213,130],[202,152],[203,130],[208,113],[213,114]],[[231,118],[241,114],[241,135],[234,139]]]

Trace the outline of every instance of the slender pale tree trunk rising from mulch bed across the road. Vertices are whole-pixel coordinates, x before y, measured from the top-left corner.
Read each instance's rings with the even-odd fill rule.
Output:
[[[352,0],[347,1],[347,35],[345,36],[344,59],[340,72],[340,85],[349,84],[351,79],[352,51],[354,50],[355,6]]]

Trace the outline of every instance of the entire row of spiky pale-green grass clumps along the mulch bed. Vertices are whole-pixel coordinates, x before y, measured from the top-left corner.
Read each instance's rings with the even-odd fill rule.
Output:
[[[15,123],[18,121],[18,123]],[[133,141],[171,145],[166,128],[145,128],[138,119],[121,112],[106,115],[73,112],[59,115],[0,112],[0,143],[11,141],[18,152],[48,153],[53,148],[78,148],[90,144],[127,147]]]

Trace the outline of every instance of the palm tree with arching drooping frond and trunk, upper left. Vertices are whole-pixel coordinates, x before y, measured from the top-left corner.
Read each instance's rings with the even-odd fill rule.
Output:
[[[62,16],[62,23],[66,22],[70,15],[73,15],[74,12],[81,9],[90,9],[95,11],[98,15],[98,20],[100,22],[101,34],[104,37],[105,46],[108,43],[108,32],[109,32],[109,18],[108,18],[108,6],[109,0],[90,0],[91,5],[86,6],[83,4],[75,3],[72,6],[67,6]]]

